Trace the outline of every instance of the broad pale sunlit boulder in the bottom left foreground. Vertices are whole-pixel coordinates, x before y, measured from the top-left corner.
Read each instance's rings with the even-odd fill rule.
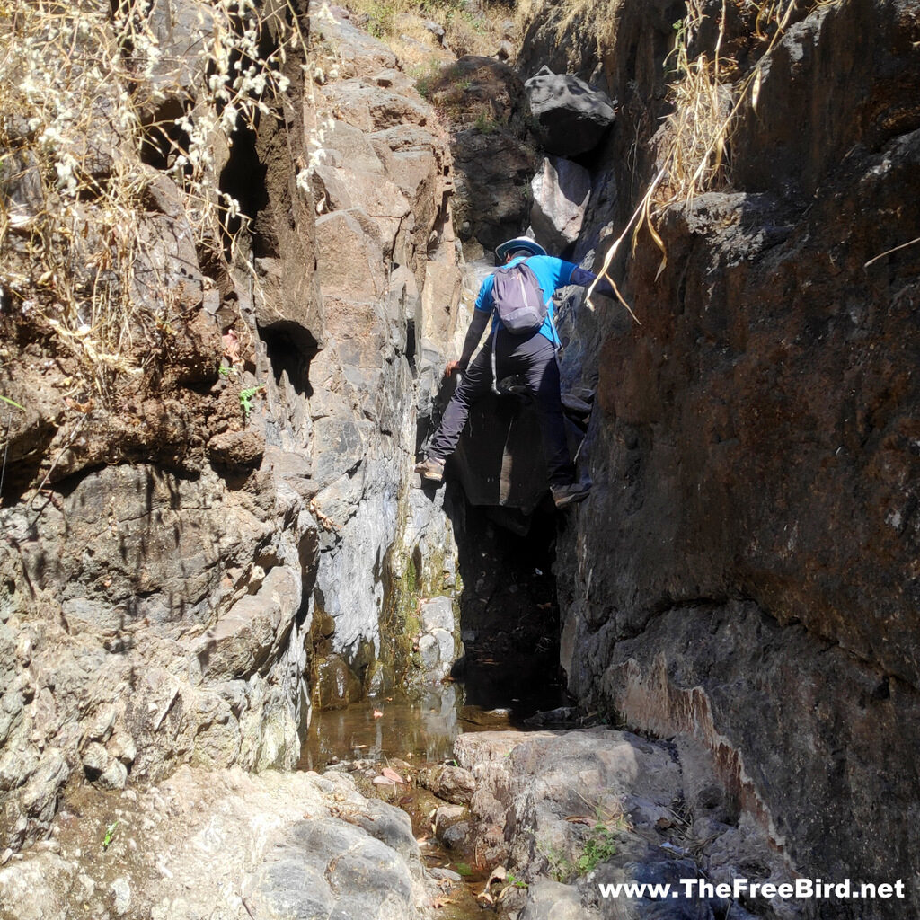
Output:
[[[0,868],[0,915],[36,920],[422,920],[433,893],[408,815],[332,772],[183,767],[121,796],[86,789]]]

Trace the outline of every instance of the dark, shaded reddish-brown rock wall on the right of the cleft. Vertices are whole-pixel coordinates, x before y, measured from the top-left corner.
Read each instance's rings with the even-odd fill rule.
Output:
[[[683,15],[614,6],[609,42],[569,62],[620,100],[588,257],[652,174]],[[619,261],[642,326],[602,299],[566,331],[564,375],[597,403],[595,488],[559,541],[562,657],[581,700],[705,742],[799,872],[915,896],[920,25],[915,5],[869,0],[797,18],[742,109],[730,189],[660,215],[660,277],[647,235]],[[552,28],[531,31],[531,70]]]

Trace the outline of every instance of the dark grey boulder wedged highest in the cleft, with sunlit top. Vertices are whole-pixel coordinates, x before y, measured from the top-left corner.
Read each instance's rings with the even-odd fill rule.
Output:
[[[544,66],[524,87],[543,145],[551,154],[585,154],[613,124],[614,103],[577,76],[554,74]]]

